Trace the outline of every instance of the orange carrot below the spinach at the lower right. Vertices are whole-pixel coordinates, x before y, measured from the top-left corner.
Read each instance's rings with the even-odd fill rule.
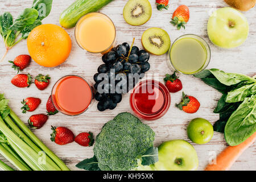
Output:
[[[246,148],[250,147],[256,139],[256,132],[247,138],[245,142],[237,146],[228,146],[216,158],[217,164],[208,164],[205,171],[228,171],[230,167],[236,162],[237,158],[242,154]]]

